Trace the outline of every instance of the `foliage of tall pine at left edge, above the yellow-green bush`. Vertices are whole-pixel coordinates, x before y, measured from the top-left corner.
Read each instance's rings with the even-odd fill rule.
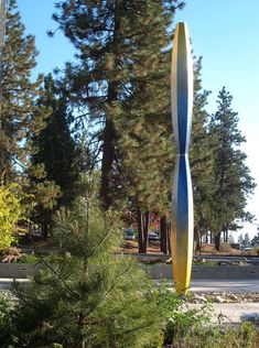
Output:
[[[17,10],[15,0],[9,1],[2,56],[2,104],[0,120],[0,180],[3,184],[18,183],[37,205],[53,206],[58,195],[54,182],[45,180],[44,166],[33,165],[34,138],[46,124],[51,109],[39,105],[43,77],[32,81],[37,52],[34,37],[25,35],[25,28]],[[35,182],[35,178],[41,182]]]

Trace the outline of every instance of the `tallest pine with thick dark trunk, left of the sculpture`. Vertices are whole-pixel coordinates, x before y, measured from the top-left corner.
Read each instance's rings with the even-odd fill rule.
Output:
[[[66,69],[69,96],[99,124],[98,133],[102,126],[96,140],[102,141],[100,198],[105,209],[114,204],[115,175],[120,171],[117,164],[123,160],[117,146],[121,130],[132,129],[132,118],[138,118],[137,137],[143,132],[147,142],[148,132],[149,140],[152,135],[159,139],[158,132],[151,135],[148,131],[145,119],[149,116],[151,123],[159,107],[164,113],[159,89],[164,90],[166,79],[163,64],[160,66],[161,50],[170,42],[166,30],[181,6],[173,0],[63,1],[54,15],[78,50],[78,63]]]

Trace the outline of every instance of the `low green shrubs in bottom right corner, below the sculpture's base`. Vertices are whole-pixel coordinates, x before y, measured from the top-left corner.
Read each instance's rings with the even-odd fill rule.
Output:
[[[163,347],[172,348],[258,348],[258,333],[250,323],[240,327],[212,323],[211,304],[188,309],[188,298],[181,300],[166,286],[158,296],[163,318]],[[185,307],[185,311],[183,311]],[[153,348],[153,347],[152,347]]]

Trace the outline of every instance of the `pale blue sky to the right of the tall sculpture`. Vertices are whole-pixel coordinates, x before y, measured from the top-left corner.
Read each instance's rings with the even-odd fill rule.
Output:
[[[203,87],[212,90],[208,111],[215,112],[223,86],[233,95],[233,109],[247,142],[247,165],[259,186],[259,1],[186,0],[175,20],[188,25],[194,54],[203,56]],[[259,187],[248,202],[259,222]],[[256,226],[242,230],[250,236]],[[235,233],[236,235],[236,233]]]

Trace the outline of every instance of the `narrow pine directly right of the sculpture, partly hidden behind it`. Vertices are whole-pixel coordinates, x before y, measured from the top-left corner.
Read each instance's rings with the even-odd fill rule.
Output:
[[[207,131],[205,110],[209,91],[202,89],[202,58],[194,64],[194,108],[190,146],[190,166],[194,197],[195,249],[201,250],[202,235],[209,228],[214,185],[214,156]]]

